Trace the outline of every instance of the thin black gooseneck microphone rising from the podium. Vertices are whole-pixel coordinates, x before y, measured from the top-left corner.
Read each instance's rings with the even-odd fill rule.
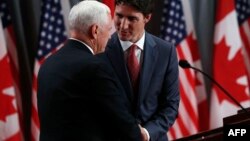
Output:
[[[217,81],[215,81],[212,77],[210,77],[208,74],[206,74],[205,72],[201,71],[198,68],[195,68],[193,66],[191,66],[187,60],[180,60],[179,61],[179,65],[183,68],[183,69],[194,69],[200,73],[202,73],[203,75],[205,75],[207,78],[209,78],[209,80],[211,80],[214,84],[216,84],[216,86],[218,86],[235,104],[237,104],[244,112],[248,113],[248,111],[226,90],[224,89]]]

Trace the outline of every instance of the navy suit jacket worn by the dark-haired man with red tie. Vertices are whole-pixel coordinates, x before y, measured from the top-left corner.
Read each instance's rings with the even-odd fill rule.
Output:
[[[166,132],[177,117],[180,101],[175,47],[145,33],[138,98],[135,98],[132,92],[124,53],[116,33],[108,42],[106,56],[130,101],[138,99],[135,114],[138,121],[149,132],[151,141],[166,141]]]

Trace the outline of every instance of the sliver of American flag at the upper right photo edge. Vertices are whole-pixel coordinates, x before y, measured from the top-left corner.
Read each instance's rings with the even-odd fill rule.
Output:
[[[235,0],[241,40],[244,49],[244,60],[248,71],[250,84],[250,1]]]

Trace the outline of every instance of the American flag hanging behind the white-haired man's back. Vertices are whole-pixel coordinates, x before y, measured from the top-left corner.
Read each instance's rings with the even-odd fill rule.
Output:
[[[32,95],[31,139],[39,140],[40,125],[37,113],[37,74],[43,61],[57,51],[67,39],[60,0],[43,0],[40,32],[35,59]]]

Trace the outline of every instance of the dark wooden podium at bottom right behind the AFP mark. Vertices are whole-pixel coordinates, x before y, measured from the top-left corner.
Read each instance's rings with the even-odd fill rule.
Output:
[[[224,125],[250,125],[250,109],[248,113],[239,110],[236,115],[223,118]],[[175,141],[222,141],[223,140],[223,127],[203,131],[191,136],[176,139]]]

